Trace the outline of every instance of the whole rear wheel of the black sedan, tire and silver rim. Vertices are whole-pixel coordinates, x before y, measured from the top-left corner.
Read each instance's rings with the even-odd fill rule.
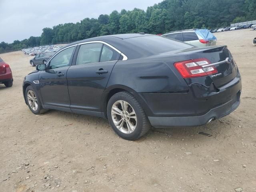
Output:
[[[118,92],[108,101],[108,121],[113,130],[126,140],[136,140],[148,132],[151,125],[136,98],[128,92]]]

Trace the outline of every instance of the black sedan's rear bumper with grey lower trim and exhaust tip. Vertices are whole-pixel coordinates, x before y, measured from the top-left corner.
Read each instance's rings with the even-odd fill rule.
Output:
[[[218,92],[190,87],[188,93],[140,94],[148,105],[145,112],[155,128],[200,126],[230,114],[240,104],[240,75]]]

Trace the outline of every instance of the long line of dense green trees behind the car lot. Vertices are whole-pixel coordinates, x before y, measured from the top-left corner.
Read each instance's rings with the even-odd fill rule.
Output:
[[[102,35],[146,32],[160,34],[190,28],[218,28],[256,19],[255,0],[164,0],[146,11],[114,10],[110,15],[43,28],[39,37],[0,43],[0,52],[32,46],[74,42]]]

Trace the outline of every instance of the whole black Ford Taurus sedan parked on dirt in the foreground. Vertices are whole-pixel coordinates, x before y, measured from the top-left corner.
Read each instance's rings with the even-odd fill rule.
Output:
[[[24,78],[30,110],[107,118],[122,138],[200,126],[240,104],[241,77],[227,46],[198,48],[150,34],[74,42]]]

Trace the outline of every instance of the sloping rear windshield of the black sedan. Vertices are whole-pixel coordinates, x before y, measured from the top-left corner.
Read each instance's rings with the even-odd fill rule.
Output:
[[[153,54],[159,54],[163,52],[193,47],[183,42],[171,40],[169,38],[165,38],[161,36],[141,36],[141,37],[124,39],[124,41],[129,42],[133,46],[137,46],[142,50],[147,50],[148,52],[152,52]]]

